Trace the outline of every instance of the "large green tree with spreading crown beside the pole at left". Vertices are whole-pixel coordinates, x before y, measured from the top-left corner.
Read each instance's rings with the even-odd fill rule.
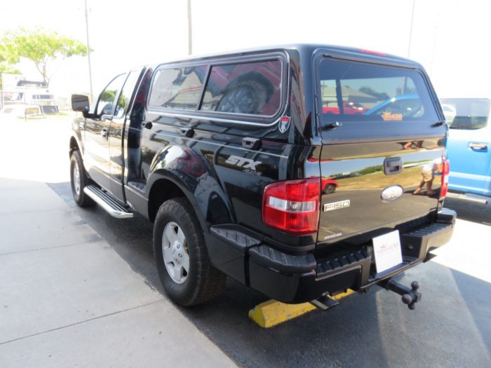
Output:
[[[48,73],[48,63],[58,57],[74,55],[87,55],[86,46],[76,39],[41,28],[6,32],[0,43],[0,62],[1,58],[8,64],[17,64],[21,58],[31,60],[48,84],[52,76]]]

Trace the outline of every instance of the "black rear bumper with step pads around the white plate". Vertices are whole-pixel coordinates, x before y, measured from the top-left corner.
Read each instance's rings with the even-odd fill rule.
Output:
[[[403,263],[379,274],[366,247],[316,259],[312,253],[275,250],[234,225],[214,226],[206,237],[212,263],[227,275],[272,299],[302,303],[326,293],[365,289],[426,261],[429,251],[452,237],[455,217],[454,211],[443,209],[437,222],[401,233]]]

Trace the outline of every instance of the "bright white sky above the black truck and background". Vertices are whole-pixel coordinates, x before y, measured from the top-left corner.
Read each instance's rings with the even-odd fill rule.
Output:
[[[187,55],[187,0],[88,6],[95,94],[130,67]],[[490,1],[192,0],[191,8],[196,55],[294,42],[355,46],[421,62],[440,97],[491,96]],[[83,0],[4,2],[0,32],[40,26],[85,42],[83,9]],[[39,79],[28,62],[20,69]],[[58,60],[51,69],[60,94],[88,91],[86,58]]]

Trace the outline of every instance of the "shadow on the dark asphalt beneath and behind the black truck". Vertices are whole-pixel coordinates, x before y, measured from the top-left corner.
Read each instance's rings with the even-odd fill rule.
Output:
[[[81,209],[69,183],[49,185],[150,287],[165,295],[147,219],[119,220],[98,207]],[[180,311],[243,367],[490,366],[491,285],[433,262],[407,271],[403,282],[412,280],[422,285],[416,311],[409,311],[396,294],[372,287],[327,312],[261,329],[248,318],[248,310],[267,298],[233,280],[217,299]]]

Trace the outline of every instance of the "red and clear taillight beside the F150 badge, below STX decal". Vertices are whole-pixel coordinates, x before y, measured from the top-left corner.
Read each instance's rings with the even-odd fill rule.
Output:
[[[262,222],[294,235],[316,233],[321,179],[269,184],[262,197]]]

